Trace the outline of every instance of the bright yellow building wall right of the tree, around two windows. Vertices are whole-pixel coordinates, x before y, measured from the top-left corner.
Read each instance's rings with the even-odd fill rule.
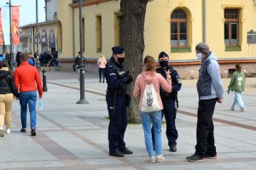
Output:
[[[195,46],[203,41],[202,0],[153,1],[148,3],[144,37],[144,54],[158,56],[160,51],[166,51],[171,59],[195,59]],[[241,51],[225,51],[224,44],[224,7],[241,8],[242,30]],[[170,18],[175,8],[189,10],[191,18],[191,52],[171,53]],[[214,0],[206,1],[207,27],[206,42],[218,58],[247,58],[256,56],[256,45],[247,44],[247,31],[256,31],[256,6],[248,0]],[[254,49],[254,50],[253,50]]]

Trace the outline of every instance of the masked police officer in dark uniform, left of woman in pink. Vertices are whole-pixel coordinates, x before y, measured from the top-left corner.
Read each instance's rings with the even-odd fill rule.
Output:
[[[133,79],[129,71],[125,72],[123,69],[125,49],[115,46],[112,51],[113,56],[104,71],[108,83],[106,100],[110,120],[108,125],[109,156],[123,157],[132,154],[132,151],[125,146],[124,136],[127,127],[126,106],[129,105],[131,99],[126,94],[126,87]]]

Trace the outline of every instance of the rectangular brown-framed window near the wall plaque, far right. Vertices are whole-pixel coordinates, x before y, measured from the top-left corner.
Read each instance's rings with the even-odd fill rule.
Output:
[[[224,43],[227,47],[239,45],[239,9],[224,9]]]

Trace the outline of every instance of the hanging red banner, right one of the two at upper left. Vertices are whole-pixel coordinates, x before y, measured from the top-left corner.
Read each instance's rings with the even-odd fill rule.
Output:
[[[20,10],[19,6],[12,6],[12,43],[20,44]]]

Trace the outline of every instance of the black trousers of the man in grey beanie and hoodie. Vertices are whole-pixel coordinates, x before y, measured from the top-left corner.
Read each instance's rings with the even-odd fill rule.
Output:
[[[199,100],[195,145],[195,153],[199,156],[204,156],[206,153],[210,155],[216,154],[214,126],[212,122],[216,101],[217,99]]]

